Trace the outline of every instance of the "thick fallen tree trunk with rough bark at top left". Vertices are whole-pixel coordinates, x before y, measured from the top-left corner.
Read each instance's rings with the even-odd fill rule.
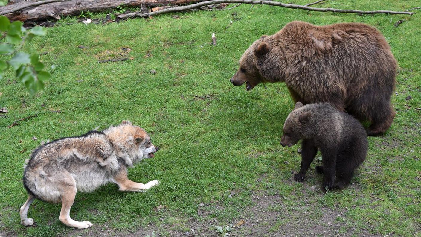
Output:
[[[7,13],[11,21],[41,21],[45,19],[60,19],[61,16],[75,16],[81,11],[98,12],[110,8],[116,8],[119,5],[125,6],[144,6],[154,7],[158,5],[185,5],[197,3],[201,0],[68,0],[64,2],[53,2],[42,5],[29,6],[21,9],[28,2],[15,3],[0,7],[0,15]],[[17,9],[12,13],[8,13]],[[20,11],[19,11],[20,10]]]

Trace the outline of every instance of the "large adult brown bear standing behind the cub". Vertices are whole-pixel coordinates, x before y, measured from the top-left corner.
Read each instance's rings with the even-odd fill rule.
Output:
[[[384,36],[362,23],[288,23],[262,36],[242,55],[234,86],[285,82],[295,102],[330,102],[371,122],[368,135],[390,127],[397,62]]]

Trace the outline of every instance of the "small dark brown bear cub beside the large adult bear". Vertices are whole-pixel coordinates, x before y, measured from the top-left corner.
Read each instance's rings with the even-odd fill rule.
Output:
[[[283,127],[281,145],[290,147],[302,139],[301,168],[294,176],[303,182],[317,150],[322,153],[324,189],[343,189],[364,161],[367,153],[367,134],[360,122],[341,112],[330,103],[295,104]]]

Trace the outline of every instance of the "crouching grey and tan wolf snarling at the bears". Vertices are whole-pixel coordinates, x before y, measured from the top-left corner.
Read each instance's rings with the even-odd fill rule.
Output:
[[[27,218],[29,205],[37,198],[61,202],[59,219],[68,226],[88,228],[89,221],[74,221],[69,216],[77,191],[91,192],[108,182],[121,191],[145,191],[159,183],[135,183],[127,178],[127,167],[152,157],[157,148],[149,135],[129,121],[104,131],[91,131],[80,137],[65,137],[41,145],[24,168],[23,183],[29,193],[21,207],[21,224],[32,225]]]

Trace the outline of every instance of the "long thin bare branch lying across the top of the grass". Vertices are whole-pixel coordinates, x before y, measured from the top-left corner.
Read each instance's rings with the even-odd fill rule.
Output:
[[[266,1],[266,0],[211,0],[211,1],[205,1],[200,3],[195,3],[192,5],[182,6],[182,7],[173,7],[173,8],[167,8],[159,11],[153,11],[148,13],[124,13],[117,15],[120,19],[126,19],[128,17],[138,16],[138,17],[149,17],[149,16],[157,16],[164,13],[171,13],[171,12],[180,12],[180,11],[188,11],[192,9],[197,9],[206,5],[213,5],[218,3],[246,3],[246,4],[252,4],[252,5],[272,5],[272,6],[279,6],[284,8],[293,8],[293,9],[302,9],[302,10],[308,10],[308,11],[330,11],[330,12],[338,12],[338,13],[357,13],[357,14],[406,14],[406,15],[412,15],[413,12],[406,12],[406,11],[383,11],[383,10],[377,10],[377,11],[360,11],[360,10],[352,10],[352,9],[336,9],[336,8],[312,8],[304,5],[295,5],[295,4],[285,4],[280,2],[274,2],[274,1]]]

